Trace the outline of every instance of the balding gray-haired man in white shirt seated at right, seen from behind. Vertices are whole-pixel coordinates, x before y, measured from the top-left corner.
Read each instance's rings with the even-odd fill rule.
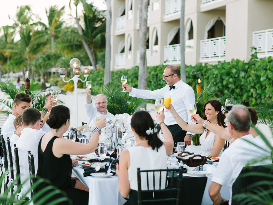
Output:
[[[234,105],[227,115],[228,131],[234,138],[234,142],[221,155],[217,169],[213,173],[212,183],[209,187],[209,196],[213,204],[231,205],[232,185],[243,167],[255,161],[253,159],[267,159],[253,164],[271,164],[271,149],[260,136],[254,138],[249,134],[251,125],[250,113],[244,105]],[[206,124],[203,125],[206,127]],[[256,145],[256,146],[255,146]],[[222,186],[228,185],[230,200],[221,197]]]

